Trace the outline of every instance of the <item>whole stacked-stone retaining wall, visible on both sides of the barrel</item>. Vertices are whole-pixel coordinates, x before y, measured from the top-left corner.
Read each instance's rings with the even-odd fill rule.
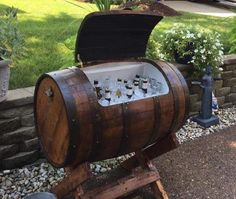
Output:
[[[191,85],[191,66],[177,67],[186,78],[190,89],[190,115],[200,110],[201,89]],[[222,79],[214,82],[214,93],[220,107],[236,104],[236,55],[225,56]],[[0,170],[20,167],[40,157],[39,140],[33,117],[34,87],[11,90],[8,99],[0,103]]]

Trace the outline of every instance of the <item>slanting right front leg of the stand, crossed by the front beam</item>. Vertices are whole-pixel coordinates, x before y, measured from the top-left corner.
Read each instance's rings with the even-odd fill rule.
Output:
[[[147,169],[149,171],[156,171],[157,172],[156,167],[148,159],[145,152],[136,152],[135,155],[136,155],[136,157],[137,157],[137,159],[138,159],[138,161],[139,161],[139,163],[140,163],[140,165],[143,169]],[[152,182],[150,184],[150,186],[151,186],[152,191],[153,191],[153,193],[154,193],[154,195],[157,199],[159,199],[160,197],[162,199],[168,199],[169,198],[166,191],[165,191],[165,189],[164,189],[164,187],[163,187],[163,185],[162,185],[162,183],[161,183],[161,181],[160,181],[160,179],[155,181],[155,182]]]

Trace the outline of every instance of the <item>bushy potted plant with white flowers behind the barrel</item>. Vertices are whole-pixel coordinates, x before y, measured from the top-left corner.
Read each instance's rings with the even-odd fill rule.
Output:
[[[161,58],[194,67],[193,76],[201,77],[211,66],[216,76],[223,64],[223,44],[220,34],[198,26],[175,25],[161,35]]]

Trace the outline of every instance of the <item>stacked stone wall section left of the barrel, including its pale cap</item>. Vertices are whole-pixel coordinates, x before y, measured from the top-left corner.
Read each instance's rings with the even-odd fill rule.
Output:
[[[33,117],[34,87],[8,92],[0,103],[0,170],[20,167],[39,157]]]

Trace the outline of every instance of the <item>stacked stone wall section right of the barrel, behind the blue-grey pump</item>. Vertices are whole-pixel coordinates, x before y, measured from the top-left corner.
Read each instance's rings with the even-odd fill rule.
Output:
[[[192,85],[188,78],[191,66],[178,65],[179,70],[187,80],[190,90],[190,115],[197,114],[201,106],[201,88]],[[218,100],[220,108],[232,107],[236,104],[236,55],[227,55],[222,66],[221,78],[214,81],[214,94]]]

